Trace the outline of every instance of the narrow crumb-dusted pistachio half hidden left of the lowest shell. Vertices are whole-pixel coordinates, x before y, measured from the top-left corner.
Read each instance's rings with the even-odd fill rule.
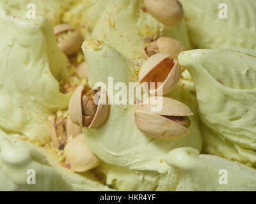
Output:
[[[67,119],[54,115],[51,119],[51,139],[52,143],[58,149],[63,149],[67,143]]]

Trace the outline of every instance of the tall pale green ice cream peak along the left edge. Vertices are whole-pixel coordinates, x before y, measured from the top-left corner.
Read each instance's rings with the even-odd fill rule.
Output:
[[[67,57],[45,18],[2,20],[0,128],[45,142],[49,116],[68,105],[69,96],[61,94],[58,82],[67,75]]]

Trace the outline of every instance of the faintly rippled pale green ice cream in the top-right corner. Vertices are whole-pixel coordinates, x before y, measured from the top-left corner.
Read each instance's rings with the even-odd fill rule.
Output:
[[[255,0],[180,0],[191,43],[196,48],[256,49]],[[219,17],[227,5],[227,19]],[[225,9],[225,8],[224,8]]]

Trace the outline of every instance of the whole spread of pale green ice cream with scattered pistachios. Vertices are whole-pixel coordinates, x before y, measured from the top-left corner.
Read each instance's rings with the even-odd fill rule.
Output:
[[[255,4],[180,2],[0,1],[1,191],[256,190]]]

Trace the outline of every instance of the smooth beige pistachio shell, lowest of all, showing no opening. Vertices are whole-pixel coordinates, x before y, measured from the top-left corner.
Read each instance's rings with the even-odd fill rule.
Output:
[[[86,144],[83,134],[68,141],[63,155],[65,156],[65,164],[76,172],[92,170],[101,162]]]

